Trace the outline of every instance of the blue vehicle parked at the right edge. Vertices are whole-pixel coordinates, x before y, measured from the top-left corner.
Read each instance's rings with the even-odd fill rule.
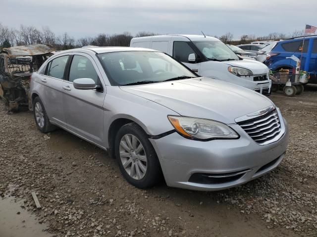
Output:
[[[309,83],[317,84],[317,35],[278,41],[267,54],[265,65],[272,71],[289,69],[295,73],[296,62],[289,58],[293,54],[301,59],[301,70],[310,74]]]

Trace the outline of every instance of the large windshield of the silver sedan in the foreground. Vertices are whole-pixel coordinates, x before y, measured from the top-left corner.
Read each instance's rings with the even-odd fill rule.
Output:
[[[102,53],[101,59],[111,85],[131,85],[196,78],[182,64],[161,52],[125,51]]]

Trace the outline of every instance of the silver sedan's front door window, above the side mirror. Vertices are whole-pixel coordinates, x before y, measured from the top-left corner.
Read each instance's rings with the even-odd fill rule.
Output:
[[[78,78],[90,78],[98,82],[98,74],[93,63],[85,56],[74,55],[69,70],[69,81]]]

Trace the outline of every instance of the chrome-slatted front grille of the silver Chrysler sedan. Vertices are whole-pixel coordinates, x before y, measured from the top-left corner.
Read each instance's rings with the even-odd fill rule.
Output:
[[[238,124],[259,145],[270,143],[281,132],[281,123],[275,109],[263,116],[238,122]]]

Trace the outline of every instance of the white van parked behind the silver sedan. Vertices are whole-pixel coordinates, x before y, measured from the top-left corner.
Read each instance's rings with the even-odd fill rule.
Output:
[[[130,47],[152,48],[181,61],[200,76],[228,81],[270,94],[269,69],[261,62],[239,58],[220,40],[199,35],[133,38]]]

